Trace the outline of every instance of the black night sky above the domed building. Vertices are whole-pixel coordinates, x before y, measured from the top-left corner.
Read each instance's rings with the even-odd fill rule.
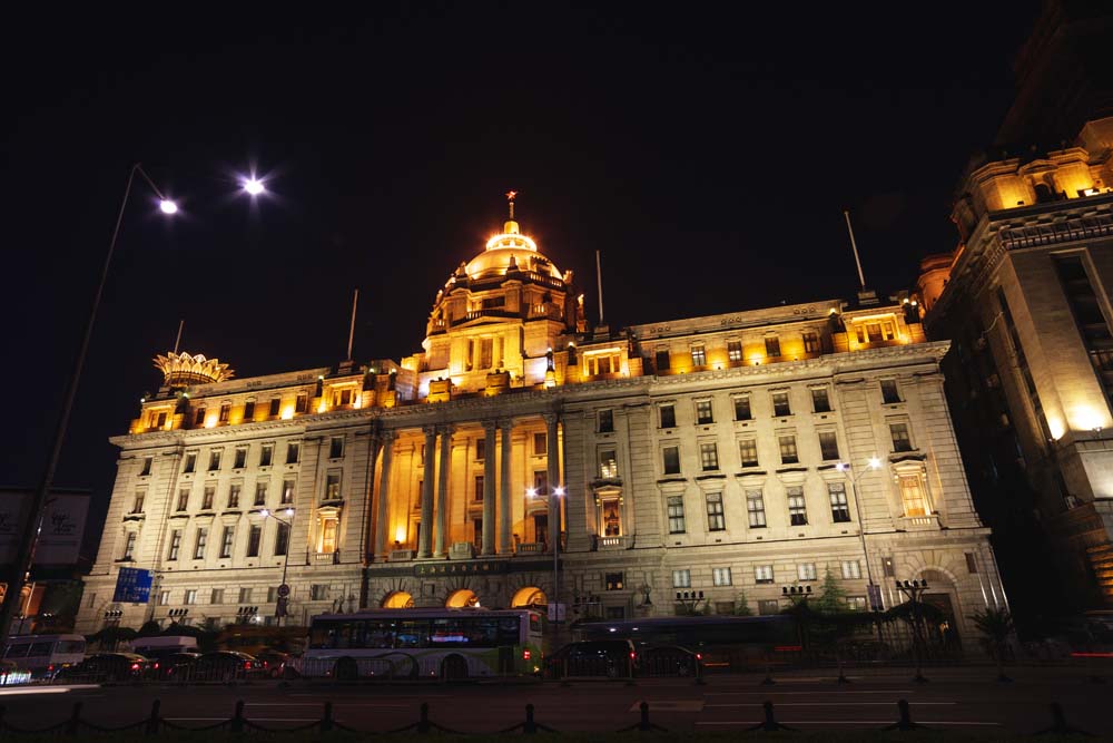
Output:
[[[398,360],[511,188],[592,317],[602,251],[612,327],[853,297],[844,208],[867,284],[910,286],[1040,9],[39,4],[0,43],[0,485],[41,476],[131,164],[181,206],[137,182],[126,211],[56,478],[95,524],[179,320],[240,377],[329,365],[357,287],[356,359]]]

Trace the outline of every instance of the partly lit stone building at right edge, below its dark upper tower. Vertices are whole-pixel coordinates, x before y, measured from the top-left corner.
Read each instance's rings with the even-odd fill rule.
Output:
[[[972,167],[923,264],[978,511],[1022,619],[1113,607],[1113,118]],[[1036,628],[1036,627],[1033,627]]]

